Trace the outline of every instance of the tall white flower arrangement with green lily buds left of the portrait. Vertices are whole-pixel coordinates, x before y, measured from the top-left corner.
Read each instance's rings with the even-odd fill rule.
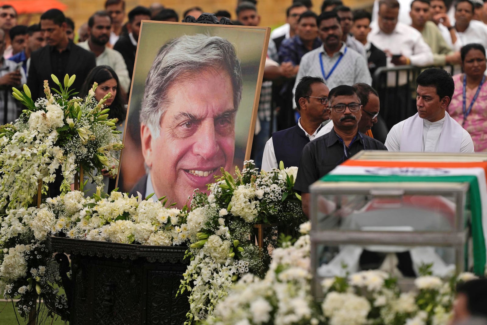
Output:
[[[111,94],[97,102],[95,83],[84,99],[74,97],[69,87],[75,76],[64,78],[64,86],[51,75],[60,90],[51,94],[44,81],[46,98],[34,102],[27,85],[23,92],[13,88],[12,95],[26,109],[13,124],[0,127],[0,208],[27,208],[42,182],[42,193],[47,194],[48,183],[56,179],[61,167],[60,191],[70,191],[75,173],[80,167],[91,177],[94,169],[103,168],[115,174],[118,168],[116,151],[123,148],[120,132],[115,130],[117,119],[108,119],[110,109],[104,103]],[[95,176],[101,184],[101,175]]]

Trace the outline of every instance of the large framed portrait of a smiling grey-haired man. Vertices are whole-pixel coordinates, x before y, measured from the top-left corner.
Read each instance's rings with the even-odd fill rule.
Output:
[[[249,159],[270,28],[143,21],[119,191],[182,208]]]

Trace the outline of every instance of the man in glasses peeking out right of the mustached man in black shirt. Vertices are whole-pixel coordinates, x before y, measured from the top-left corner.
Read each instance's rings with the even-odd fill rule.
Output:
[[[353,85],[353,87],[355,88],[358,99],[360,99],[360,104],[362,105],[362,117],[358,122],[358,131],[373,138],[374,136],[372,135],[371,129],[374,124],[377,123],[377,116],[380,111],[379,95],[374,88],[363,82],[358,82]],[[330,123],[327,123],[319,130],[317,137],[327,134],[332,131],[332,129],[333,121],[330,121]]]

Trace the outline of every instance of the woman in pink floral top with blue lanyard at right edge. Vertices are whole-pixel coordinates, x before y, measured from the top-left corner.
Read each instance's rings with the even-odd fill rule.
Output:
[[[461,50],[463,74],[453,76],[455,92],[447,111],[468,131],[475,152],[487,152],[486,51],[480,44]]]

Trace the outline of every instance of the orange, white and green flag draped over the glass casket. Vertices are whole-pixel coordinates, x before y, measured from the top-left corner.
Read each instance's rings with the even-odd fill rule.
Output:
[[[324,182],[468,182],[472,213],[474,272],[486,266],[487,162],[432,162],[349,159],[329,174]]]

